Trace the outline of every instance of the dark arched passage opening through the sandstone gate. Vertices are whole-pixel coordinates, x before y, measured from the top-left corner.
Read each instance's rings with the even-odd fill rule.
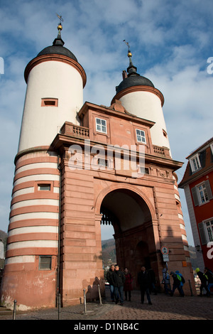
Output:
[[[142,264],[148,264],[158,274],[155,214],[151,203],[142,196],[136,188],[114,185],[103,190],[102,200],[97,198],[99,213],[107,212],[106,217],[114,226],[117,262],[121,269],[127,266],[133,274],[134,288]]]

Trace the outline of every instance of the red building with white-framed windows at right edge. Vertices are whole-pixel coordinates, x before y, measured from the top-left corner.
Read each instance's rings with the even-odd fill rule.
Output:
[[[213,270],[213,138],[187,156],[185,190],[200,269]]]

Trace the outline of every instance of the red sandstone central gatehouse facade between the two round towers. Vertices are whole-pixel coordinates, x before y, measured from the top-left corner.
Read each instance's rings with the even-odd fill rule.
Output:
[[[64,305],[73,301],[73,298],[77,301],[85,287],[90,296],[90,293],[97,291],[97,281],[102,283],[100,222],[104,213],[114,225],[117,262],[121,267],[127,266],[133,273],[134,288],[137,288],[136,276],[141,264],[154,269],[160,286],[165,266],[160,254],[162,246],[170,250],[169,270],[181,271],[193,286],[174,173],[182,163],[173,161],[166,149],[153,146],[150,136],[153,124],[129,115],[119,102],[108,108],[85,103],[79,116],[82,126],[65,123],[61,134],[53,141],[53,147],[60,152],[62,166],[60,287]],[[107,134],[95,129],[95,117],[107,121]],[[141,145],[135,136],[138,128],[146,132],[148,139],[145,148],[146,174],[140,177],[138,173],[138,177],[133,178],[131,170],[116,169],[115,154],[109,161],[111,168],[94,166],[92,163],[88,166],[88,160],[85,163],[85,156],[82,155],[85,139],[90,140],[87,153],[92,151],[95,144],[102,144],[105,149],[102,158],[107,159],[107,149],[118,143],[119,146],[128,143],[129,147],[136,146],[138,159],[138,146]],[[76,169],[72,170],[70,145],[74,144],[79,146],[80,168],[75,165]],[[93,151],[89,156],[90,161],[97,161],[97,154],[98,150]],[[77,158],[76,150],[76,161]],[[124,156],[121,166],[123,161]],[[185,290],[190,293],[189,286],[185,286]]]

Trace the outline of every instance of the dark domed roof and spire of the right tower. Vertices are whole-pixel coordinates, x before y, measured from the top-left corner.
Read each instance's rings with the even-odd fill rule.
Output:
[[[132,86],[149,86],[154,88],[155,86],[153,85],[153,82],[151,82],[151,80],[148,80],[147,77],[143,77],[136,72],[137,68],[133,65],[131,60],[131,51],[129,49],[129,43],[126,44],[128,45],[128,57],[129,57],[129,68],[127,68],[128,74],[126,74],[126,77],[124,77],[124,80],[121,81],[119,86],[116,86],[116,94],[121,92],[121,90],[125,90],[125,88]]]

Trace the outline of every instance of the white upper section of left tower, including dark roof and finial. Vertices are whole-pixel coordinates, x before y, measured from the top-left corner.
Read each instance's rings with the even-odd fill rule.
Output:
[[[26,100],[18,152],[35,146],[50,146],[64,122],[79,124],[86,74],[77,58],[58,37],[26,66]]]

